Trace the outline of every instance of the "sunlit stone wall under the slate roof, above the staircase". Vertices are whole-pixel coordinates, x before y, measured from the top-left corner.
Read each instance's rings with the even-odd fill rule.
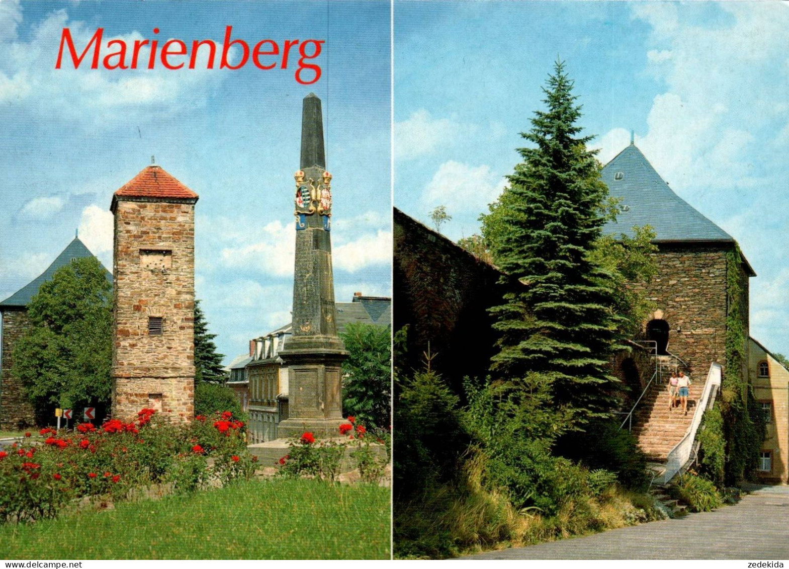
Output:
[[[656,305],[651,317],[669,325],[667,350],[698,381],[712,361],[726,365],[726,253],[721,246],[660,245],[658,275],[645,290]]]

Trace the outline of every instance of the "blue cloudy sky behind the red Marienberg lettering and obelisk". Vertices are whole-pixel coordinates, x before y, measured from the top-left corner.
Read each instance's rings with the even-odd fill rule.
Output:
[[[391,294],[386,2],[0,0],[0,298],[73,238],[111,264],[112,193],[156,163],[200,194],[196,296],[226,361],[290,321],[301,99],[323,100],[335,294]],[[61,30],[107,39],[325,39],[320,80],[289,69],[54,69]],[[153,28],[160,29],[153,36]],[[81,47],[79,47],[81,50]],[[147,61],[147,58],[141,59]],[[218,67],[218,66],[216,66]]]

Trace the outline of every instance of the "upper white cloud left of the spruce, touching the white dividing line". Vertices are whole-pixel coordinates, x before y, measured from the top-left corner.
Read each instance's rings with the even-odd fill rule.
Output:
[[[474,130],[473,125],[432,118],[427,110],[415,110],[405,121],[394,123],[394,159],[409,160],[432,154],[439,144],[469,136]]]

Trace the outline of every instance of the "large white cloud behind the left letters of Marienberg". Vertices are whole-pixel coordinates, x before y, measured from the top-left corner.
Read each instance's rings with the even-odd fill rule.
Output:
[[[6,2],[8,0],[0,0],[0,6]],[[14,21],[13,14],[9,16],[0,11],[0,30],[4,17],[6,21]],[[64,47],[62,69],[54,69],[63,28],[70,29],[78,53],[88,45],[96,30],[84,22],[69,21],[66,10],[60,9],[32,28],[29,43],[9,43],[4,48],[4,61],[0,65],[0,105],[13,103],[17,108],[68,121],[84,129],[108,128],[118,122],[148,122],[203,106],[208,95],[227,77],[226,73],[205,69],[208,50],[198,52],[196,69],[168,70],[158,66],[151,70],[112,70],[100,64],[99,69],[90,69],[88,59],[92,52],[85,56],[79,69],[73,69],[69,51]],[[106,47],[112,39],[121,39],[130,46],[134,40],[145,38],[136,31],[104,36],[101,53],[117,51],[117,46]],[[163,38],[159,43],[165,41]],[[221,50],[218,45],[217,52]],[[129,48],[126,65],[129,65],[130,52]],[[148,54],[148,46],[142,47],[138,62],[147,62]]]

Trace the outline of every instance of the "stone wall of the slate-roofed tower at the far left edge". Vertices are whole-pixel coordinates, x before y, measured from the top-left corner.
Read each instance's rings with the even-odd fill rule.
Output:
[[[11,373],[13,346],[30,327],[26,310],[6,309],[2,313],[2,369],[0,369],[0,429],[36,425],[33,406],[24,395],[21,380]]]

